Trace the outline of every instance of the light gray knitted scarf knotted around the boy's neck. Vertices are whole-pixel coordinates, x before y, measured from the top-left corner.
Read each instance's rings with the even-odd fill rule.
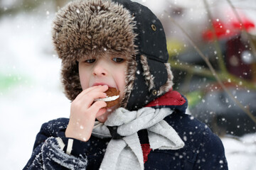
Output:
[[[170,108],[141,108],[139,111],[127,111],[117,108],[103,124],[95,122],[92,135],[112,137],[107,126],[117,127],[122,138],[110,140],[100,165],[102,170],[144,169],[142,147],[137,132],[146,129],[151,149],[180,149],[184,146],[177,132],[165,120],[173,111]]]

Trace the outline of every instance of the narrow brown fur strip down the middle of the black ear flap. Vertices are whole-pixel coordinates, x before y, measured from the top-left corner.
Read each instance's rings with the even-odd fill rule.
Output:
[[[149,64],[146,61],[146,56],[141,55],[141,62],[142,62],[143,75],[146,81],[146,86],[148,86],[149,91],[151,91],[151,89],[155,87],[154,76],[149,71]]]

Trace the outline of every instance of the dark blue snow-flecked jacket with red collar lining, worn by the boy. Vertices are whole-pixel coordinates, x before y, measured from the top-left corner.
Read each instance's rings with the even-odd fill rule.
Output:
[[[178,132],[185,146],[178,150],[151,150],[144,164],[145,169],[228,169],[223,144],[219,137],[214,135],[205,124],[185,114],[186,98],[172,91],[148,106],[168,107],[174,110],[174,113],[164,120]],[[31,159],[24,169],[100,168],[110,138],[101,139],[92,136],[87,142],[74,140],[71,154],[65,154],[63,151],[65,148],[60,149],[56,137],[60,137],[65,147],[67,146],[68,138],[65,137],[65,129],[68,121],[68,118],[59,118],[42,125],[36,136]],[[139,139],[146,141],[145,131],[140,132]]]

